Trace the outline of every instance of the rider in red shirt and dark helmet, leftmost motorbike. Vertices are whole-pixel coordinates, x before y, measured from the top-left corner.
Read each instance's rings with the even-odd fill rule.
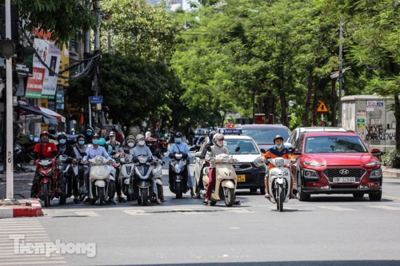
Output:
[[[55,158],[57,156],[57,147],[54,143],[49,143],[50,134],[47,130],[43,130],[40,133],[40,143],[34,146],[34,157],[37,159],[41,158]],[[59,182],[61,180],[61,182]],[[39,181],[39,172],[36,170],[33,176],[32,187],[30,188],[30,197],[37,197],[37,182]],[[61,188],[63,188],[63,176],[62,171],[59,171],[59,176],[57,178],[57,193],[61,193]]]

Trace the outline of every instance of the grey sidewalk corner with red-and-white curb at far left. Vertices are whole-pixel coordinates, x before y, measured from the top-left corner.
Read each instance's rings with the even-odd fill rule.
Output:
[[[34,170],[34,166],[30,165],[26,165],[26,168]],[[2,164],[0,170],[3,170]],[[1,201],[7,194],[7,175],[0,174],[0,218],[43,216],[39,200],[29,198],[33,174],[34,172],[14,172],[14,198],[19,201],[19,205],[4,205]]]

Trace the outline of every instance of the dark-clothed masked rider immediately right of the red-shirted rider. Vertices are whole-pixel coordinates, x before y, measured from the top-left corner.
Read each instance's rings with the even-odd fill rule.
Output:
[[[59,154],[65,154],[68,157],[72,157],[72,163],[77,163],[77,154],[75,154],[74,152],[74,147],[67,143],[66,132],[59,132],[59,134],[57,134],[57,141],[59,142],[59,144],[57,145],[57,150],[59,151]],[[67,178],[68,183],[72,183],[72,186],[68,187],[68,191],[66,191],[66,194],[68,197],[70,197],[73,190],[74,203],[79,203],[78,181],[77,176],[75,176],[75,173],[72,170],[72,167],[70,168],[70,172],[68,173]]]

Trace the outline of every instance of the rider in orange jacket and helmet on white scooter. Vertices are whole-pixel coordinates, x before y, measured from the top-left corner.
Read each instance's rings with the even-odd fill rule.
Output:
[[[268,160],[268,158],[290,158],[292,161],[296,161],[296,158],[292,155],[292,152],[287,147],[283,146],[283,136],[277,135],[274,137],[274,144],[270,147],[265,154],[263,154],[264,160]],[[270,163],[269,169],[275,167]],[[264,178],[264,183],[266,185],[266,195],[265,198],[270,198],[269,192],[269,185],[268,185],[268,174],[266,174],[266,178]],[[296,198],[296,195],[293,194],[293,184],[294,184],[294,176],[290,173],[290,198]]]

